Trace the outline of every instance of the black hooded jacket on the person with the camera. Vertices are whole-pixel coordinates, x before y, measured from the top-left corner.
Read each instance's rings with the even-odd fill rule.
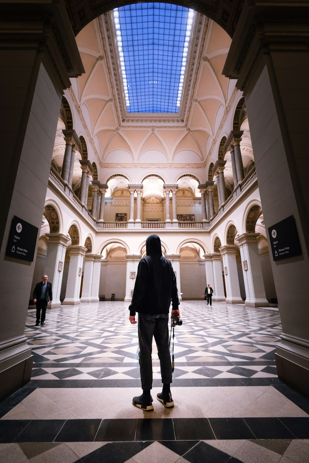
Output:
[[[162,256],[158,235],[148,236],[146,254],[138,264],[130,315],[168,313],[171,300],[173,309],[178,309],[176,277],[172,264]]]

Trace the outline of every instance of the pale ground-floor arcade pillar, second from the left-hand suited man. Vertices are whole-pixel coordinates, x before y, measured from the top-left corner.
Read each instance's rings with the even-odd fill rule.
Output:
[[[64,305],[75,305],[80,303],[80,283],[83,260],[87,248],[84,246],[70,246],[70,262],[68,266],[68,282]]]

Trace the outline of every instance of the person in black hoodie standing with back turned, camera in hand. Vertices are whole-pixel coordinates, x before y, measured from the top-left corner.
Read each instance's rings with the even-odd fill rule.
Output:
[[[172,364],[168,346],[168,313],[172,301],[172,316],[180,318],[176,277],[172,264],[162,256],[161,240],[150,235],[146,240],[146,257],[138,264],[132,301],[129,306],[130,323],[136,323],[138,312],[139,364],[143,393],[133,397],[132,404],[144,411],[153,410],[152,388],[152,338],[158,348],[160,359],[162,392],[157,394],[164,407],[174,406],[170,384]]]

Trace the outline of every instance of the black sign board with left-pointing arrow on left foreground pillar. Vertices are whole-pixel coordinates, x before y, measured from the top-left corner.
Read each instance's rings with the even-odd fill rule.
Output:
[[[33,261],[38,228],[14,215],[6,256]]]

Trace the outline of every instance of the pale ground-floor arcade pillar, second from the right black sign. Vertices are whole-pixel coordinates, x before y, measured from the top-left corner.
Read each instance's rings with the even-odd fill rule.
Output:
[[[236,250],[237,246],[232,244],[220,248],[223,259],[226,302],[228,304],[243,304],[237,273]]]

